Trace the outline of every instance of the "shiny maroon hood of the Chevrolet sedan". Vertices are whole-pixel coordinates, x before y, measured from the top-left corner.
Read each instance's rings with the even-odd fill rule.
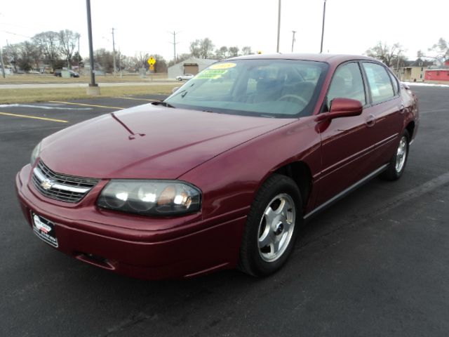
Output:
[[[175,179],[294,120],[141,105],[45,138],[40,157],[53,171],[72,176]]]

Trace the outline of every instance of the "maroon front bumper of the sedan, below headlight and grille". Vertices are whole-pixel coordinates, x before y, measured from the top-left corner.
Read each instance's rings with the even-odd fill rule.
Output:
[[[144,279],[192,277],[236,266],[246,216],[172,219],[105,212],[90,204],[68,206],[43,197],[29,183],[31,166],[16,176],[22,212],[55,224],[58,250],[91,265]],[[88,199],[86,197],[86,199]],[[121,225],[123,224],[123,225]]]

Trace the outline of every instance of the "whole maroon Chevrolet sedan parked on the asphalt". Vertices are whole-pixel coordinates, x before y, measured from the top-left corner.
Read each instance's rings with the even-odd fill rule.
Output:
[[[250,55],[162,102],[43,139],[16,178],[34,233],[133,277],[283,265],[304,220],[403,174],[417,99],[372,58]]]

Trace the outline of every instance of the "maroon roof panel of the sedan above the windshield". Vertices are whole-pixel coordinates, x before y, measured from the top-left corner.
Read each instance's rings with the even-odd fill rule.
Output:
[[[275,54],[260,54],[260,55],[246,55],[229,60],[250,60],[250,59],[269,59],[269,60],[310,60],[327,63],[341,63],[349,60],[370,60],[379,62],[375,58],[370,58],[363,55],[345,55],[345,54],[297,54],[297,53],[275,53]]]

